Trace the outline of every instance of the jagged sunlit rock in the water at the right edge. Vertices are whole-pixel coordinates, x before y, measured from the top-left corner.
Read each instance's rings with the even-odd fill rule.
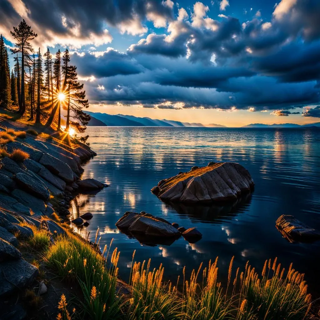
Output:
[[[320,231],[310,228],[291,215],[281,215],[276,228],[289,242],[314,242],[320,240]]]

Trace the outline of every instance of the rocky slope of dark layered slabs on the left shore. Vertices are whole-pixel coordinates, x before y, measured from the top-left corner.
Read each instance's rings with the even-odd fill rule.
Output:
[[[23,129],[19,123],[0,120],[0,131]],[[86,145],[71,148],[56,139],[27,134],[5,146],[9,154],[20,149],[29,158],[23,162],[9,156],[0,158],[0,297],[21,290],[38,274],[38,269],[24,260],[17,249],[17,236],[20,240],[33,235],[32,229],[23,225],[45,228],[53,236],[63,234],[64,229],[48,217],[54,212],[68,214],[72,191],[105,186],[93,179],[80,180],[81,163],[95,155]]]

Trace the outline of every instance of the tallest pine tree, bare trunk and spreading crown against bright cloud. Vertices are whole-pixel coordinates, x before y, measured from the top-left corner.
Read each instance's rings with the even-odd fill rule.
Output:
[[[10,33],[16,40],[16,49],[12,49],[12,53],[21,52],[21,106],[19,111],[23,115],[26,111],[24,67],[30,61],[30,52],[33,52],[33,48],[29,41],[33,40],[37,34],[31,30],[31,27],[28,26],[24,19],[20,22],[18,28],[13,27],[13,32],[10,31]]]

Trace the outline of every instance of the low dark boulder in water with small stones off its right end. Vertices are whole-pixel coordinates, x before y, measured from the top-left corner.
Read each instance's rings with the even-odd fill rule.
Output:
[[[180,232],[170,222],[162,218],[154,217],[148,213],[126,212],[116,222],[120,230],[130,234],[143,234],[150,237],[172,238],[180,236]]]

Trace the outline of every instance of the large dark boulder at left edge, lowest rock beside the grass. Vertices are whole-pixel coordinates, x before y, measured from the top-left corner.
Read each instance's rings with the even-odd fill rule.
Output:
[[[24,259],[1,262],[0,297],[31,284],[38,273],[38,269]]]

